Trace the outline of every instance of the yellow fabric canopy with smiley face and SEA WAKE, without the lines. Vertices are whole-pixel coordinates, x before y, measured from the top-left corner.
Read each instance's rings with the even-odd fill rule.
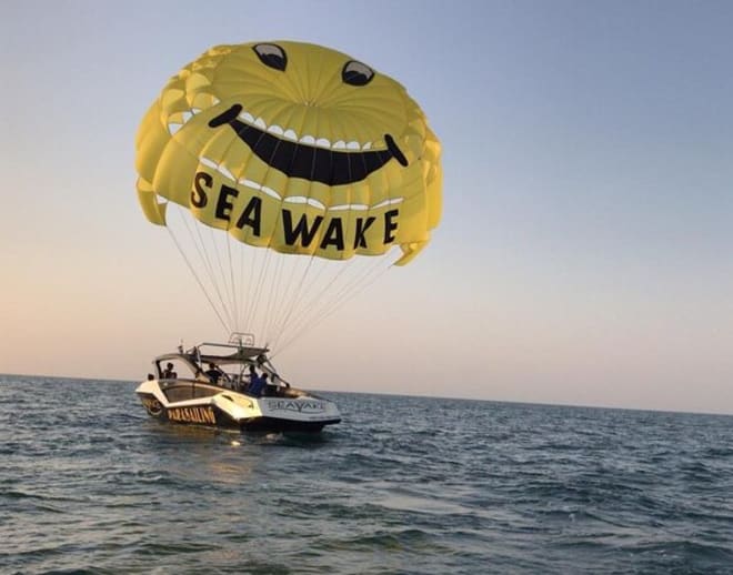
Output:
[[[440,143],[391,78],[299,42],[222,46],[183,68],[138,133],[143,211],[168,202],[238,240],[405,263],[440,220]]]

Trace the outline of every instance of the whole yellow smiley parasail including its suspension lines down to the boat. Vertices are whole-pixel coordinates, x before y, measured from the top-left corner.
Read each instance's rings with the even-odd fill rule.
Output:
[[[138,198],[222,325],[290,341],[440,220],[440,142],[405,89],[347,54],[219,46],[172,77],[137,137]]]

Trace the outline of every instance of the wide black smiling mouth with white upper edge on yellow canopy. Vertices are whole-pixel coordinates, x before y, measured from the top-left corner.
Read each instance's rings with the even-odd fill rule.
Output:
[[[255,123],[250,118],[240,104],[234,104],[210,120],[209,127],[229,124],[260,160],[290,178],[343,185],[364,180],[392,158],[401,165],[408,165],[408,159],[390,134],[384,134],[386,150],[370,150],[370,144],[359,150],[341,150],[340,144],[343,148],[350,148],[350,144],[337,142],[331,145],[325,140],[313,140],[313,144],[303,142],[303,139],[292,141],[280,137],[278,132],[281,130],[268,129],[260,119]],[[287,137],[287,132],[283,135]]]

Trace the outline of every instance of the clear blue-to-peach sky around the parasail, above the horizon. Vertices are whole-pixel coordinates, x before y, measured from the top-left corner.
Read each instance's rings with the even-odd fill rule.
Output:
[[[733,414],[732,29],[714,0],[6,0],[0,373],[138,381],[225,337],[140,211],[134,137],[209,47],[284,39],[405,85],[444,202],[289,380]]]

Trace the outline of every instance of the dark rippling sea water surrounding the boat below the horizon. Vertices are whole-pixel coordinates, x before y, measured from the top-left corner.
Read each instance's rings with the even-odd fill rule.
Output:
[[[733,573],[733,417],[327,394],[320,437],[0,375],[0,573]]]

